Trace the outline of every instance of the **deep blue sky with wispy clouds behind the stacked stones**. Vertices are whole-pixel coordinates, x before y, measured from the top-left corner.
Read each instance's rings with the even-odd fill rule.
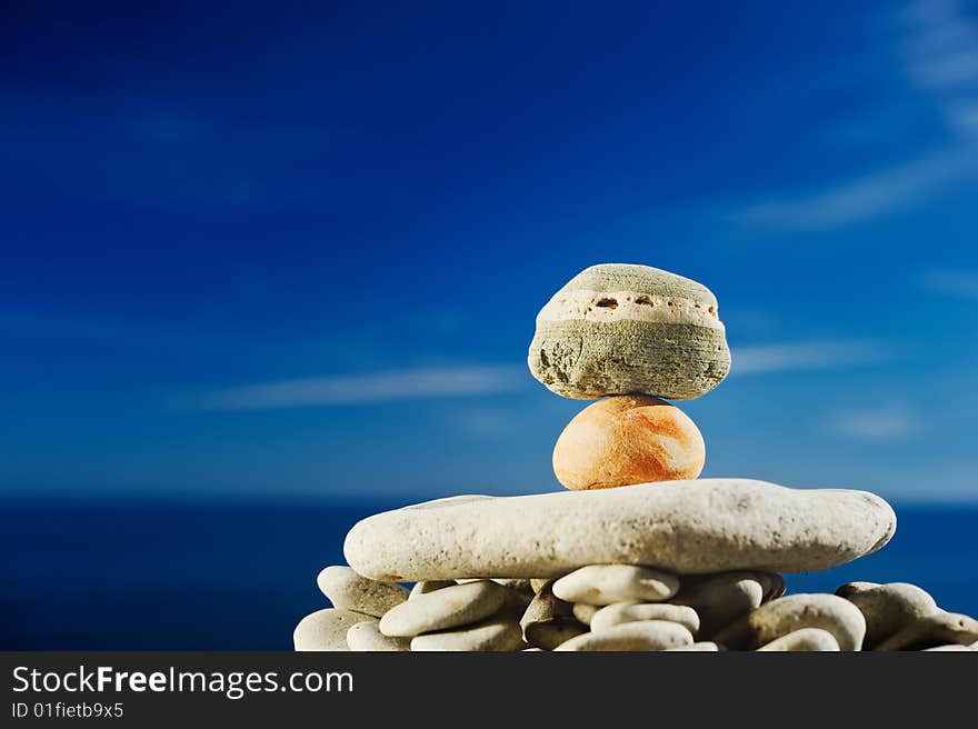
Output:
[[[978,9],[676,4],[4,3],[0,489],[559,488],[610,261],[719,298],[705,476],[978,500]]]

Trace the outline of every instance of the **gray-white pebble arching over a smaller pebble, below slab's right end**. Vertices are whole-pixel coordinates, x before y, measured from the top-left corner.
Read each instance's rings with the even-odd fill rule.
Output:
[[[717,642],[754,650],[801,628],[829,631],[845,651],[859,650],[866,618],[855,605],[836,595],[789,595],[771,600],[719,631]]]

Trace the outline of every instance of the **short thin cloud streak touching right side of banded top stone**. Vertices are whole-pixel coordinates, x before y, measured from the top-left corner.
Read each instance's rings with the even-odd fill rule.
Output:
[[[828,340],[781,342],[734,349],[732,376],[768,375],[800,370],[841,369],[877,363],[891,348],[884,342]]]

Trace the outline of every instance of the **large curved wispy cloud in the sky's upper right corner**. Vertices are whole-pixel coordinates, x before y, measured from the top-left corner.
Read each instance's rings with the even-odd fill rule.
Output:
[[[921,203],[947,186],[978,179],[978,29],[954,0],[924,0],[902,13],[898,49],[905,82],[922,91],[944,120],[938,148],[797,196],[772,196],[735,217],[780,231],[840,228]]]

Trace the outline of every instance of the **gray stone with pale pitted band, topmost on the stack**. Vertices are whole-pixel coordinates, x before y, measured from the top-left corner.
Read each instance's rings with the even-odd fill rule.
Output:
[[[727,376],[730,350],[705,286],[648,266],[601,263],[573,277],[537,314],[528,363],[567,398],[641,392],[688,400]]]

